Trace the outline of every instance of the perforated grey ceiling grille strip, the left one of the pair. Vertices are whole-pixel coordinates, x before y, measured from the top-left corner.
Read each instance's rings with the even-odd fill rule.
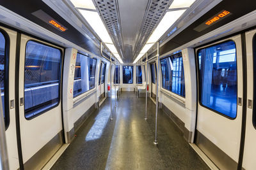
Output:
[[[116,49],[122,55],[123,41],[121,34],[120,20],[118,17],[118,3],[114,0],[94,0],[99,13],[108,28],[108,32],[116,46]]]

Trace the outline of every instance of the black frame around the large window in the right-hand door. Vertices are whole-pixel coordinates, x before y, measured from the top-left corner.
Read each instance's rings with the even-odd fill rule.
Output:
[[[236,42],[233,40],[233,39],[225,39],[225,40],[223,40],[223,41],[218,41],[218,42],[216,42],[216,43],[212,43],[212,44],[210,44],[210,45],[205,45],[205,46],[202,46],[201,48],[198,48],[198,49],[196,49],[196,56],[195,56],[195,58],[196,58],[196,72],[197,72],[197,80],[198,80],[198,103],[200,104],[200,106],[202,106],[202,107],[204,107],[204,108],[207,108],[207,110],[211,110],[211,111],[213,111],[214,113],[217,113],[217,114],[219,114],[219,115],[221,115],[221,116],[223,116],[223,117],[225,117],[225,118],[228,118],[228,119],[230,119],[230,120],[235,120],[236,118],[237,118],[237,105],[238,104],[236,104],[236,117],[234,117],[234,118],[232,118],[232,117],[228,117],[227,115],[225,115],[225,114],[223,114],[223,113],[221,113],[220,111],[216,111],[216,110],[214,110],[214,109],[212,109],[212,108],[209,108],[209,107],[207,107],[207,106],[204,106],[204,104],[202,104],[202,102],[201,102],[201,94],[202,94],[202,87],[201,87],[201,85],[202,85],[202,82],[201,82],[201,80],[200,80],[200,76],[199,76],[199,74],[200,74],[200,64],[199,64],[199,59],[198,59],[198,53],[199,53],[199,51],[200,50],[202,50],[202,49],[204,49],[204,48],[210,48],[210,47],[212,47],[212,46],[216,46],[216,45],[219,45],[219,44],[221,44],[221,43],[227,43],[228,41],[232,41],[233,43],[234,43],[234,45],[236,46],[236,57],[237,57],[237,45],[236,45]],[[202,59],[201,59],[201,61],[202,61]],[[236,60],[236,71],[237,71],[237,60]],[[237,76],[236,76],[236,81],[237,81]],[[238,81],[237,81],[238,82]],[[238,85],[237,85],[237,87],[236,87],[237,89],[236,89],[236,94],[237,94],[237,92],[238,92]],[[237,98],[238,97],[236,97],[236,101],[237,101]]]

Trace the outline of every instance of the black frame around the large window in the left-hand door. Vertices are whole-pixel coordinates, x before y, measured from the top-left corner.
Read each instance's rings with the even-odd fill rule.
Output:
[[[58,97],[58,101],[57,101],[56,105],[54,105],[52,107],[49,107],[45,110],[42,110],[39,113],[37,113],[36,115],[33,115],[32,117],[26,118],[26,111],[25,111],[25,66],[26,66],[26,47],[27,47],[29,41],[34,41],[34,42],[39,43],[41,45],[49,46],[51,48],[55,48],[55,49],[60,51],[60,73],[59,73],[60,82],[59,82],[59,87],[58,87],[59,97]],[[26,41],[25,53],[24,53],[24,80],[23,80],[23,85],[24,85],[24,92],[23,92],[23,96],[24,96],[24,118],[26,118],[26,120],[32,120],[33,118],[36,118],[36,117],[44,114],[45,112],[47,112],[49,110],[52,110],[52,109],[54,109],[54,108],[56,108],[60,105],[60,101],[61,101],[61,97],[62,97],[61,89],[62,89],[62,80],[63,80],[63,76],[62,76],[63,75],[63,61],[64,61],[63,53],[64,53],[63,49],[61,49],[60,46],[52,45],[51,43],[47,43],[45,41],[40,41],[40,40],[34,39],[34,38],[28,39],[28,41]],[[38,108],[39,106],[42,106],[43,104],[45,104],[45,103],[39,104],[38,106],[33,106],[32,108]]]

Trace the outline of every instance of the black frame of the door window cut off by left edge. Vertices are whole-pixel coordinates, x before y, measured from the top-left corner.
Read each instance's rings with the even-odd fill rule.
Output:
[[[10,108],[9,108],[9,68],[10,68],[10,37],[4,29],[0,28],[1,34],[4,36],[4,126],[5,131],[10,125]]]

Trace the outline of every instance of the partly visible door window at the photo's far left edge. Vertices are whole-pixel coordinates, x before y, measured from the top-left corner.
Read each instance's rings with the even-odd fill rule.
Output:
[[[7,92],[4,89],[4,87],[7,85],[6,83],[6,71],[8,64],[6,63],[6,40],[4,38],[4,35],[0,32],[0,85],[1,85],[1,99],[2,99],[2,106],[3,106],[3,114],[4,114],[4,123],[5,128],[7,129],[9,124],[9,114],[8,114],[8,108],[4,106],[4,103],[8,103],[8,99],[6,99]],[[5,102],[6,100],[6,102]]]

